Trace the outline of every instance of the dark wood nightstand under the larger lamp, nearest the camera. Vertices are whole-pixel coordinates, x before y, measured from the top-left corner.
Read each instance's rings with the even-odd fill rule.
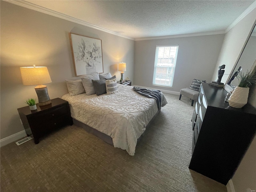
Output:
[[[42,136],[66,125],[72,125],[67,101],[55,98],[52,103],[38,106],[37,110],[31,111],[29,106],[18,108],[20,119],[26,130],[27,136],[33,134],[35,144],[39,143]]]

